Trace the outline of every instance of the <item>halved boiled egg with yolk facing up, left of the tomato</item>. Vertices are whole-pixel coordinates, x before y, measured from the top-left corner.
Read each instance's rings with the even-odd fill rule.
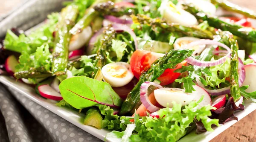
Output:
[[[116,70],[116,67],[118,69]],[[110,63],[102,67],[103,80],[111,87],[122,87],[128,84],[134,77],[130,64],[125,62]]]

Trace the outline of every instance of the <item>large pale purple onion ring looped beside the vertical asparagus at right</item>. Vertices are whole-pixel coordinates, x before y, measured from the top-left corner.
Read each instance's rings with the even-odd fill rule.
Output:
[[[197,45],[218,45],[223,47],[224,49],[227,50],[227,55],[223,56],[222,58],[216,60],[216,61],[199,61],[193,57],[189,57],[186,60],[188,61],[189,64],[195,65],[195,66],[200,66],[200,67],[212,67],[216,66],[218,64],[222,64],[226,61],[226,58],[230,56],[231,50],[228,46],[226,46],[223,43],[220,43],[218,41],[212,41],[212,40],[206,40],[206,39],[201,39],[198,41],[193,41],[189,44],[187,44],[184,48],[190,49],[191,47],[197,46]]]

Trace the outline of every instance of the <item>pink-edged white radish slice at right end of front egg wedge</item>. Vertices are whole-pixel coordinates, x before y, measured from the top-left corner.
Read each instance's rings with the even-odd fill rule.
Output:
[[[203,101],[201,101],[199,103],[199,105],[201,107],[204,107],[206,105],[212,105],[212,99],[211,99],[209,93],[207,93],[207,91],[204,90],[204,88],[202,88],[198,85],[193,86],[193,88],[195,89],[195,91],[193,91],[192,95],[195,96],[195,98],[194,98],[195,101],[200,100],[201,97],[204,96]]]

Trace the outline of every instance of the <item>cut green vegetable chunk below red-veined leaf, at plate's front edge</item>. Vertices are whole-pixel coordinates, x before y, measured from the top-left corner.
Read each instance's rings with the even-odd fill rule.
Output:
[[[84,118],[84,125],[94,126],[98,129],[103,128],[102,116],[98,109],[90,107],[90,109],[87,110],[86,116]]]

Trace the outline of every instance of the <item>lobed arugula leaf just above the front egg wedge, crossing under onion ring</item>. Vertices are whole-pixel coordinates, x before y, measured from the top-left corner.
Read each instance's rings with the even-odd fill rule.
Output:
[[[201,53],[200,58],[198,60],[199,61],[210,61],[213,56],[213,54],[212,54],[213,50],[214,50],[213,47],[205,49]],[[179,82],[179,83],[183,82],[183,87],[185,88],[185,92],[187,92],[187,93],[192,93],[192,91],[195,91],[195,89],[193,88],[193,85],[195,85],[194,81],[196,79],[198,79],[199,81],[201,81],[202,84],[207,86],[207,82],[202,77],[202,73],[203,73],[203,75],[207,75],[209,77],[212,76],[211,72],[209,72],[209,69],[206,67],[183,66],[182,68],[175,70],[175,72],[186,72],[186,71],[189,72],[189,75],[184,78],[181,78],[181,79],[176,79],[175,82]]]

